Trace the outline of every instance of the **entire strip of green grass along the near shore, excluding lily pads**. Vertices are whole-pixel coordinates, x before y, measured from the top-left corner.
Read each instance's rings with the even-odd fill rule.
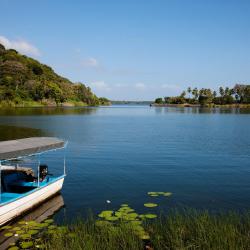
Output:
[[[46,249],[249,249],[250,213],[211,215],[188,210],[171,211],[142,225],[150,240],[143,241],[131,224],[96,224],[93,219],[80,219],[43,236]]]

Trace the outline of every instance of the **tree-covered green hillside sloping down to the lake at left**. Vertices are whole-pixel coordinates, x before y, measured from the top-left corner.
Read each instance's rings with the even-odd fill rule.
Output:
[[[81,102],[86,105],[106,104],[89,87],[72,83],[57,75],[52,68],[0,44],[0,102],[41,103]]]

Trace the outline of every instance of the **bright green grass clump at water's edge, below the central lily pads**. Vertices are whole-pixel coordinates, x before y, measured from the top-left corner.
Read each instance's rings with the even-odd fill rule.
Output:
[[[49,232],[43,237],[45,249],[143,249],[143,241],[132,232],[128,224],[120,224],[114,227],[112,224],[95,224],[89,219],[77,220],[58,232]]]

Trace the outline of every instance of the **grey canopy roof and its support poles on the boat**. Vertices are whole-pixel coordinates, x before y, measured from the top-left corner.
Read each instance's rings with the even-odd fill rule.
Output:
[[[21,159],[38,155],[38,181],[37,187],[40,187],[40,155],[57,149],[65,149],[68,142],[56,137],[30,137],[18,140],[1,141],[0,142],[0,202],[1,202],[1,172],[2,163],[6,161]],[[63,175],[66,176],[66,159],[64,151]]]

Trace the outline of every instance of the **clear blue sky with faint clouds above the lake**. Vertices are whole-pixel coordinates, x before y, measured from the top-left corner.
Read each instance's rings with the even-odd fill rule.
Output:
[[[113,100],[250,83],[250,1],[0,0],[0,42]]]

